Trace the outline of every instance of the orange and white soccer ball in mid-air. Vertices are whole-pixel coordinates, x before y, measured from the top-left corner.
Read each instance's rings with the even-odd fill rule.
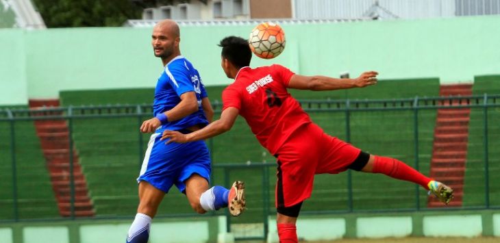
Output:
[[[255,55],[271,59],[285,49],[285,32],[277,23],[260,23],[251,31],[248,42]]]

